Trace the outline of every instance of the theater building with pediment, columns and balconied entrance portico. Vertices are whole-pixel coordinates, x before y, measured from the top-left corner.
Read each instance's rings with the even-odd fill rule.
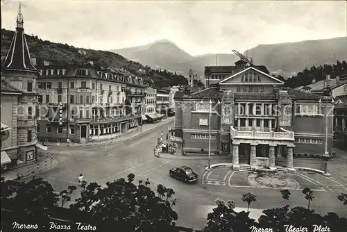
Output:
[[[240,164],[323,169],[325,151],[332,151],[332,117],[325,117],[332,98],[283,89],[282,81],[257,67],[235,65],[224,78],[210,79],[215,83],[210,88],[176,92],[177,151],[207,153],[210,139],[212,154],[228,154],[235,169]]]

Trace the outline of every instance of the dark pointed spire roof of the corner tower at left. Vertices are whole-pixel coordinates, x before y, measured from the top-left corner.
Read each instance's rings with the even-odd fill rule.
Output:
[[[21,17],[19,12],[19,16]],[[26,36],[24,34],[23,22],[19,24],[17,18],[17,28],[13,35],[10,49],[8,49],[5,61],[1,64],[1,69],[37,70],[31,63],[30,51]]]

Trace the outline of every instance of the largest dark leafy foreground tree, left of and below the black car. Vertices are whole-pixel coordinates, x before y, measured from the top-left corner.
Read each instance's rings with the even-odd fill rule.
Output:
[[[149,188],[149,179],[135,185],[134,178],[134,174],[129,174],[128,181],[122,178],[108,182],[106,188],[97,183],[82,186],[81,197],[70,208],[90,213],[106,225],[125,224],[128,229],[124,231],[169,231],[178,219],[172,209],[176,204],[176,199],[172,199],[174,190],[158,185],[155,196]]]

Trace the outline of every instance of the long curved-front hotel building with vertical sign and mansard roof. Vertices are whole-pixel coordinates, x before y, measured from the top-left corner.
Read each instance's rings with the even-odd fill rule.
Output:
[[[39,140],[87,142],[137,130],[144,99],[139,80],[91,65],[40,71]]]

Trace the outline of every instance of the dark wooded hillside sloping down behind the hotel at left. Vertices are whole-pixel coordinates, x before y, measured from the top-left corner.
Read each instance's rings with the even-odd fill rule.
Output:
[[[1,29],[1,58],[8,52],[13,33],[13,31]],[[49,61],[52,65],[85,65],[88,60],[92,60],[97,68],[120,67],[137,76],[150,78],[153,80],[153,86],[157,88],[187,83],[183,76],[152,70],[146,65],[128,60],[114,52],[85,49],[86,55],[82,55],[78,53],[78,48],[68,44],[43,41],[37,36],[31,35],[26,35],[26,40],[32,56],[36,56],[39,60]]]

